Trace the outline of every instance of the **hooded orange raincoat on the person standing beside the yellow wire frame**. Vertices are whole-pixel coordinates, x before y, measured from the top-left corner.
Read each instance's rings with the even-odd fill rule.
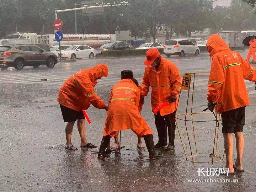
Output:
[[[255,82],[255,69],[217,34],[209,37],[207,50],[212,58],[207,99],[217,103],[216,112],[250,105],[244,79]]]

